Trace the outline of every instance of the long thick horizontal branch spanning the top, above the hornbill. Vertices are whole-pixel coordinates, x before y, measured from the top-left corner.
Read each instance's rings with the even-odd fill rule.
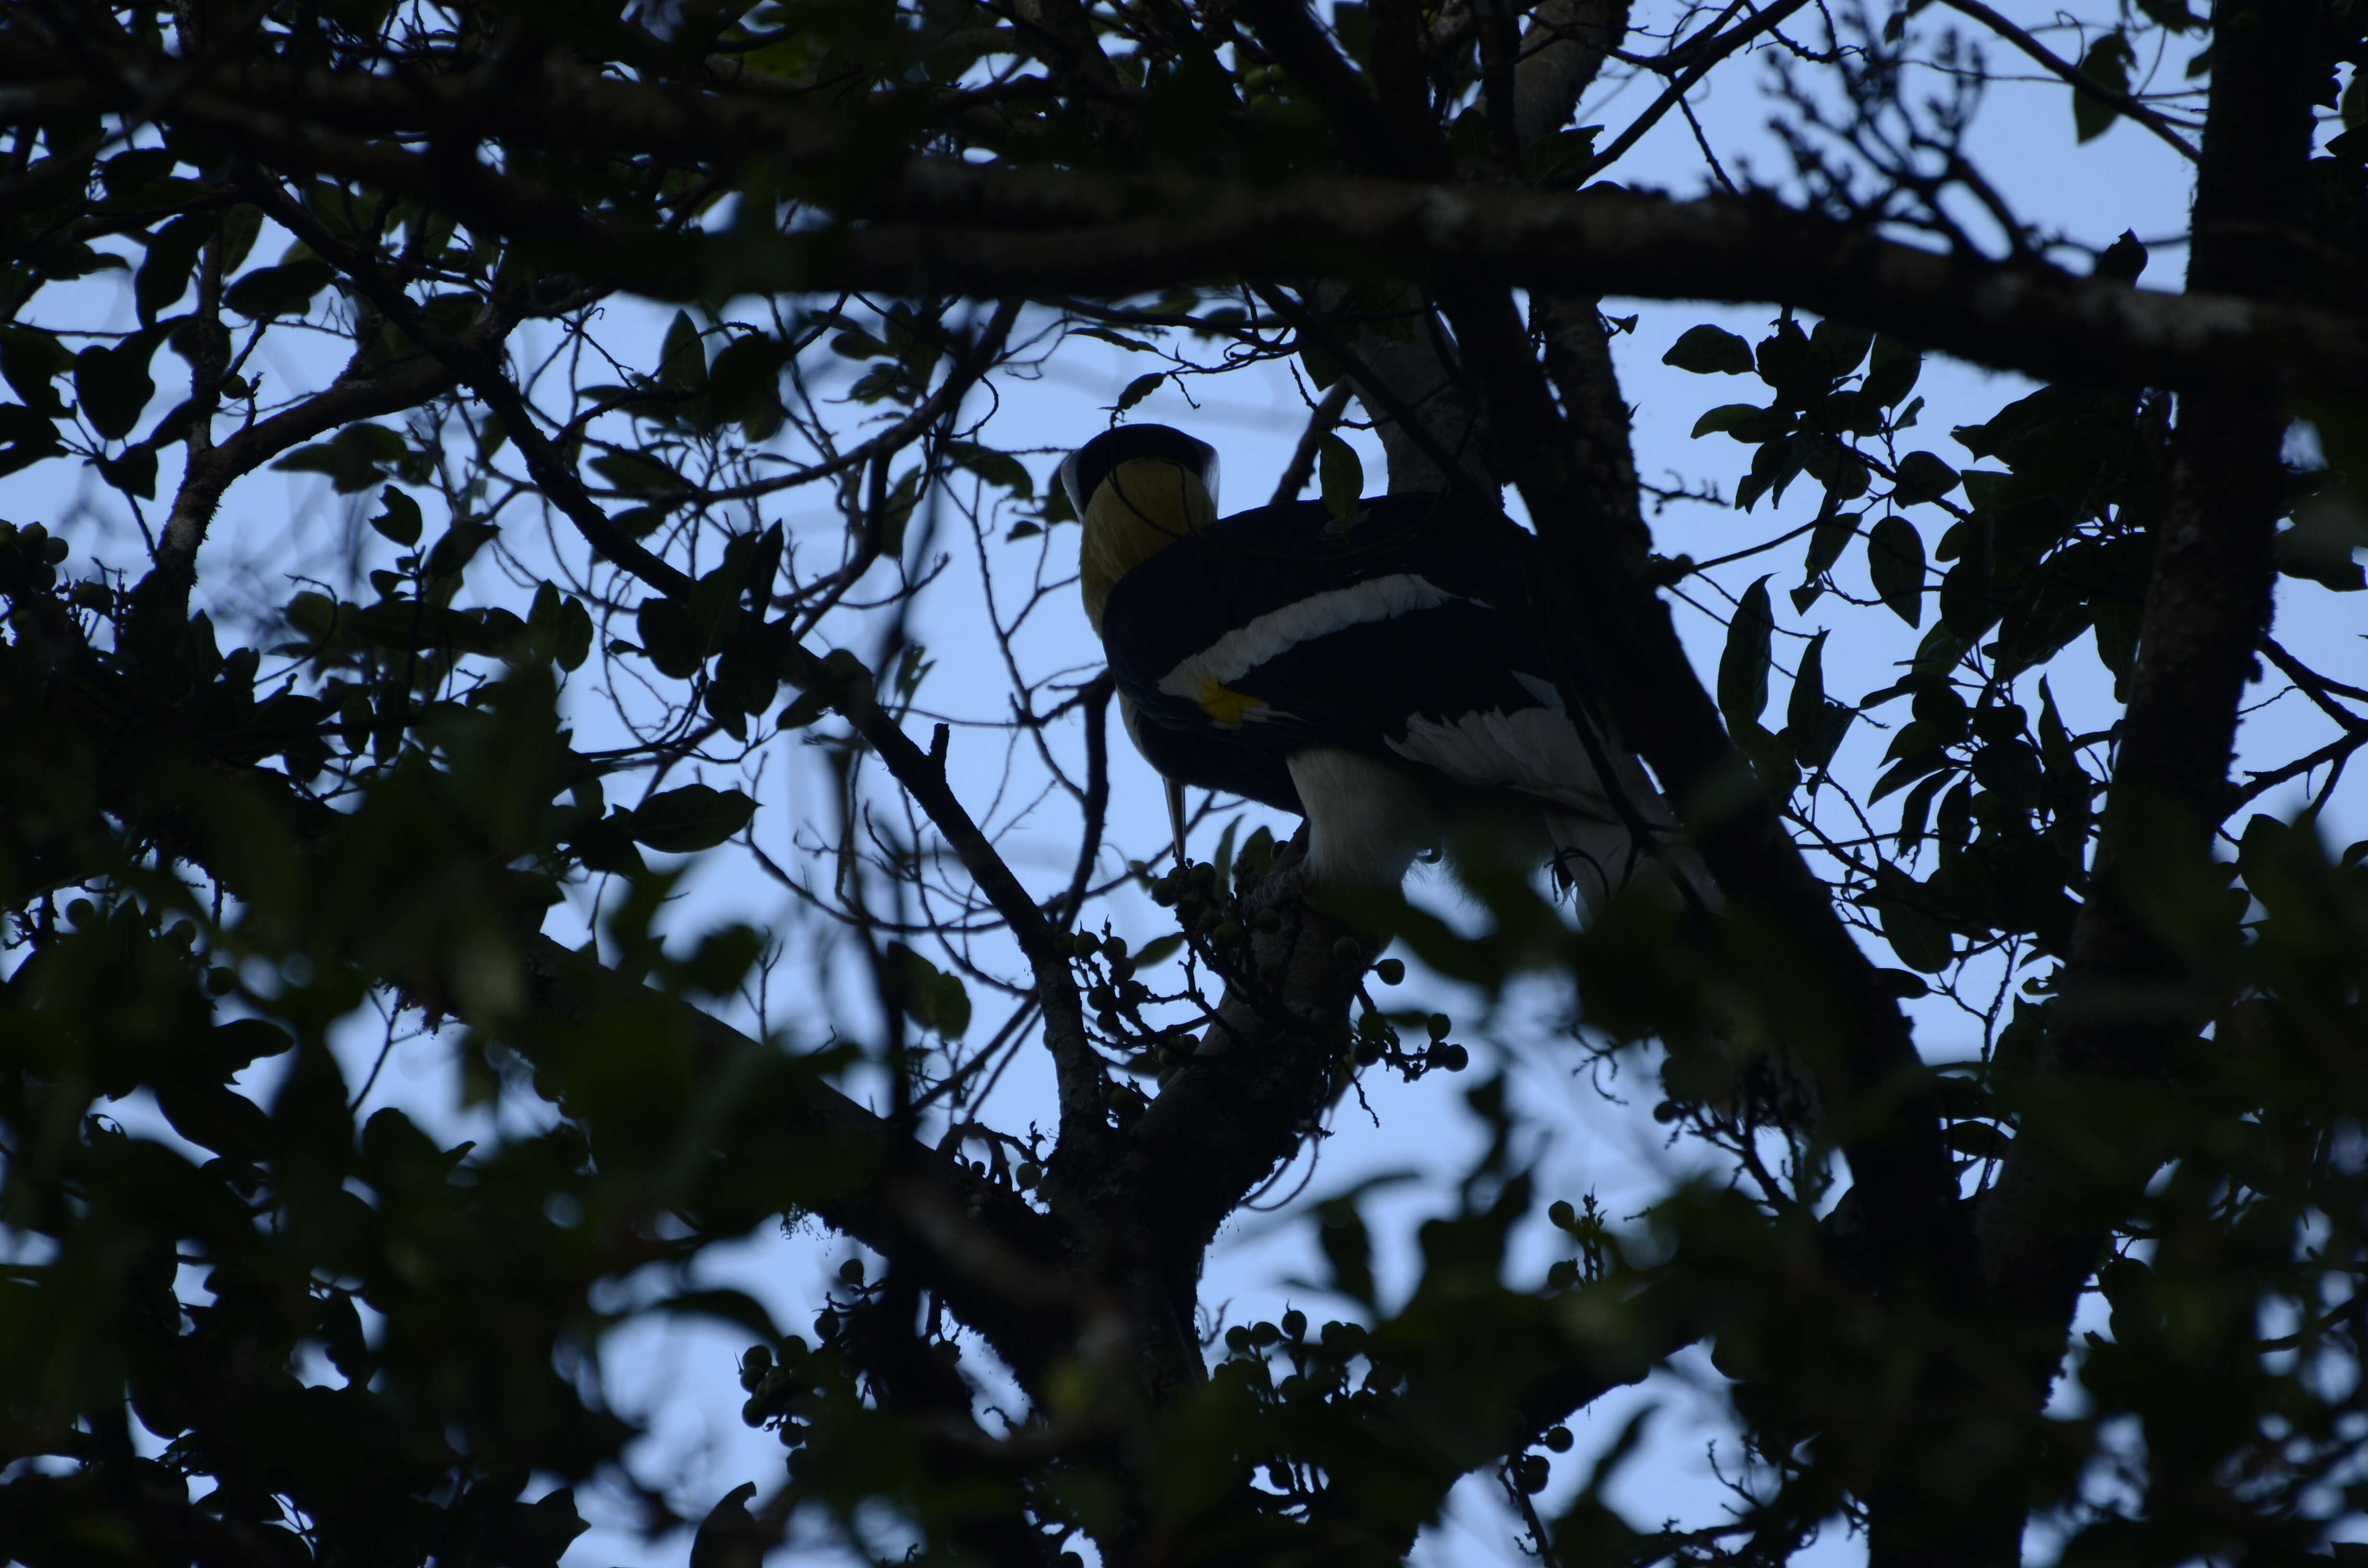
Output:
[[[289,83],[275,78],[275,85]],[[19,88],[19,95],[45,111],[64,111],[73,92],[90,99],[71,104],[83,111],[121,95],[69,88]],[[547,144],[580,128],[620,154],[734,166],[751,144],[777,147],[793,161],[848,156],[812,116],[767,118],[784,114],[772,99],[604,78],[566,81],[554,95],[528,88],[497,107],[474,107],[466,128],[514,135],[521,144]],[[412,97],[407,83],[322,76],[258,104],[192,92],[168,114],[234,140],[275,168],[360,178],[488,232],[564,244],[571,268],[604,270],[661,296],[682,294],[684,279],[699,291],[1132,294],[1215,277],[1364,275],[1376,256],[1388,256],[1411,279],[1788,303],[2041,379],[2195,386],[2254,377],[2285,391],[2368,393],[2368,322],[2351,315],[2209,291],[2150,294],[2032,263],[1939,256],[1767,197],[1662,201],[1383,180],[1305,180],[1253,192],[916,159],[855,187],[862,227],[774,239],[628,237],[526,180],[478,163],[455,171],[358,140],[450,130],[464,104],[466,95],[448,88]]]

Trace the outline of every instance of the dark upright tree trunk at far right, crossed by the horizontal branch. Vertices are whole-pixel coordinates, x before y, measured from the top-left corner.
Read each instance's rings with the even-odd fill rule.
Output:
[[[2283,301],[2299,284],[2311,97],[2328,71],[2311,12],[2295,0],[2224,0],[2214,9],[2190,294]],[[2162,865],[2212,874],[2238,708],[2271,616],[2285,424],[2278,388],[2257,377],[2205,384],[2179,400],[2089,898],[2020,1135],[1977,1225],[1984,1293],[2020,1360],[2029,1416],[2048,1397],[2112,1225],[2160,1163],[2155,1146],[2110,1146],[2070,1111],[2162,1082],[2171,1052],[2202,1023],[2186,997],[2188,964],[2148,919],[2138,883],[2160,886]],[[2013,1521],[1989,1528],[2001,1561],[2020,1523],[2015,1509]]]

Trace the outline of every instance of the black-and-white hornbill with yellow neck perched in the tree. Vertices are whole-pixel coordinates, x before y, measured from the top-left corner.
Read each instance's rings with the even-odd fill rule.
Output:
[[[1392,888],[1444,850],[1551,855],[1589,910],[1650,865],[1714,900],[1636,758],[1565,708],[1523,535],[1494,509],[1390,495],[1350,519],[1324,502],[1220,519],[1217,452],[1163,424],[1096,436],[1061,483],[1085,613],[1127,734],[1170,782],[1179,855],[1198,784],[1307,817],[1331,886]],[[1643,850],[1632,824],[1672,843]]]

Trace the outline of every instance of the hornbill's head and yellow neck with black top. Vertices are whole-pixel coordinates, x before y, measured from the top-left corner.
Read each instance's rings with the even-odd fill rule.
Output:
[[[1217,448],[1165,424],[1127,424],[1070,452],[1061,488],[1085,523],[1077,580],[1101,632],[1118,578],[1217,521]]]

